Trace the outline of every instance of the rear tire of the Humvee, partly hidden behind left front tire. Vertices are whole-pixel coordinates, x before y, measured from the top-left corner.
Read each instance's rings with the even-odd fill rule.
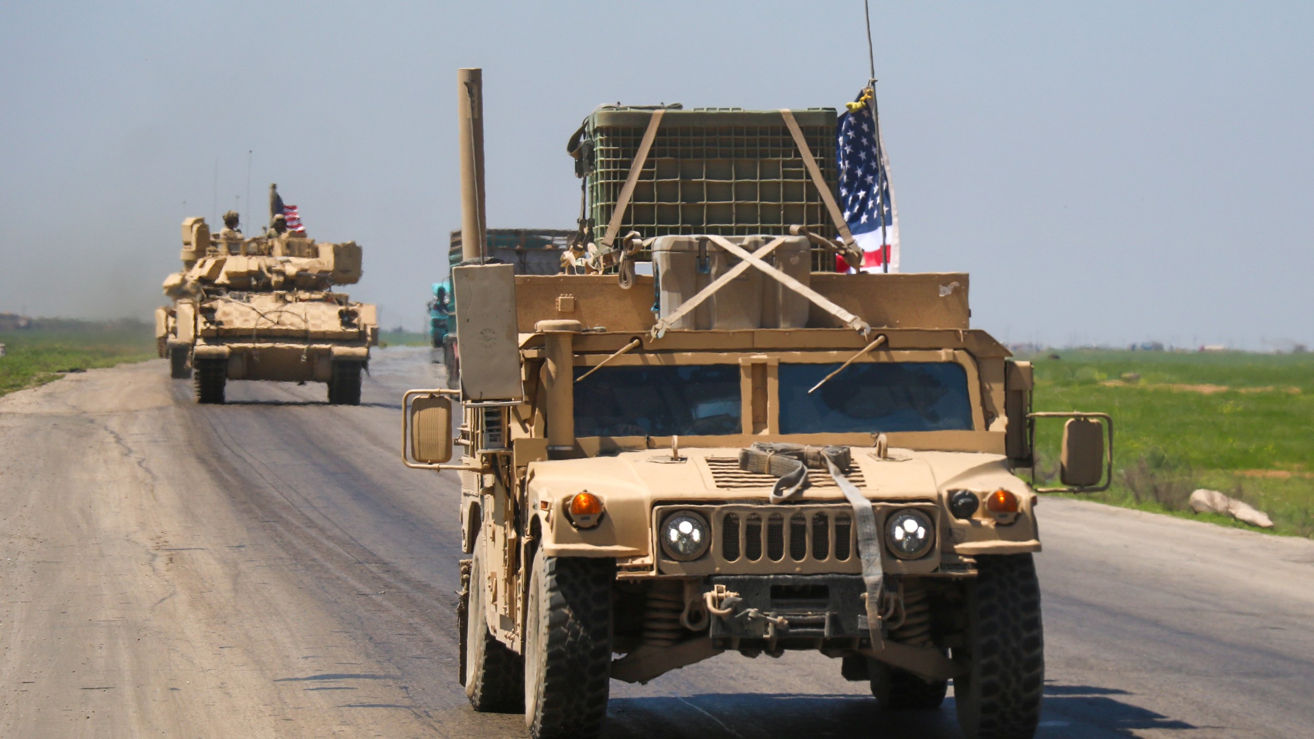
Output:
[[[524,710],[524,660],[489,632],[484,546],[480,534],[470,563],[465,614],[465,697],[477,711],[520,713]]]

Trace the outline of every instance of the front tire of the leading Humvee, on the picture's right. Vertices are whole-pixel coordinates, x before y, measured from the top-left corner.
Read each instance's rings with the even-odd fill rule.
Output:
[[[967,675],[954,679],[968,739],[1031,739],[1045,689],[1041,585],[1031,555],[980,556],[968,585]],[[955,654],[955,657],[958,655]]]

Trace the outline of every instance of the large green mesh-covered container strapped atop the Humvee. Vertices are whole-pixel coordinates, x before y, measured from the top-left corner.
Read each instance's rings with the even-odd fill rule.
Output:
[[[794,117],[834,192],[836,110],[794,110]],[[595,238],[611,222],[650,118],[652,109],[618,107],[599,108],[585,122]],[[791,225],[837,237],[779,110],[668,109],[619,234],[783,234]]]

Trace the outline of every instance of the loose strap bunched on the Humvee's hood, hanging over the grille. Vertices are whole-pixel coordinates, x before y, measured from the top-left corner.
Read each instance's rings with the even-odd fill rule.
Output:
[[[853,519],[858,527],[858,556],[862,559],[862,583],[866,586],[865,605],[871,648],[880,650],[880,593],[886,573],[880,564],[880,535],[876,531],[876,513],[871,501],[857,485],[844,476],[851,464],[849,447],[809,447],[788,443],[757,442],[752,448],[740,450],[740,469],[779,477],[771,487],[773,504],[795,500],[808,481],[808,468],[827,469],[844,497],[853,506]]]

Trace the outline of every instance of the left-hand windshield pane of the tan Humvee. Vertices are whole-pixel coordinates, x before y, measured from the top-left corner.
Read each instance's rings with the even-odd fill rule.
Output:
[[[737,364],[603,367],[574,385],[576,435],[741,434],[740,394]]]

